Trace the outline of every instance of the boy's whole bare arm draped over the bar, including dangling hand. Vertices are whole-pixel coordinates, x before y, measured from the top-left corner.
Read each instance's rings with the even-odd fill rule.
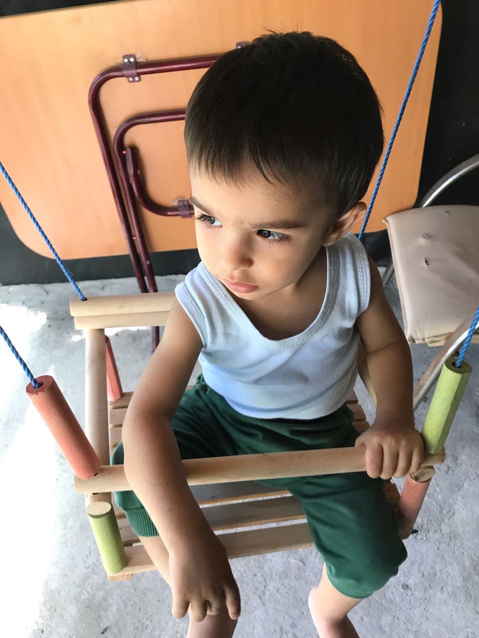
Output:
[[[191,607],[198,622],[208,610],[219,613],[226,607],[232,619],[240,612],[224,546],[188,487],[170,426],[201,347],[197,330],[175,300],[123,423],[125,475],[169,553],[172,613],[182,618]]]

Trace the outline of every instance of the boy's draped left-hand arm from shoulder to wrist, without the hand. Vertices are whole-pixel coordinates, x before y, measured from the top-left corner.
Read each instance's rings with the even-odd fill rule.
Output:
[[[163,338],[133,392],[123,422],[126,477],[167,549],[204,521],[170,427],[201,346],[197,330],[175,300]]]

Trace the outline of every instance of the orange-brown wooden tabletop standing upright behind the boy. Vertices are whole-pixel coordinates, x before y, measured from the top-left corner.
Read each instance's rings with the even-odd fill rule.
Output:
[[[98,73],[126,52],[148,60],[197,56],[224,52],[267,29],[306,29],[335,38],[358,58],[383,103],[389,137],[431,6],[431,0],[137,0],[3,18],[2,161],[63,258],[125,254],[87,105]],[[439,12],[369,230],[383,228],[384,216],[416,198],[440,26]],[[184,107],[203,72],[107,82],[101,101],[110,135],[133,114]],[[161,204],[190,195],[182,135],[183,122],[171,122],[137,126],[126,136],[140,149],[149,195]],[[371,193],[372,187],[367,201]],[[3,179],[0,201],[21,241],[50,257]],[[192,220],[142,218],[151,251],[194,247]]]

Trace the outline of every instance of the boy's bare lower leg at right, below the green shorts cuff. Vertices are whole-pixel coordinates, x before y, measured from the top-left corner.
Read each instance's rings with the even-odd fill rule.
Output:
[[[321,582],[312,588],[308,598],[314,626],[321,638],[359,638],[347,614],[361,600],[363,598],[350,598],[335,589],[324,565]]]

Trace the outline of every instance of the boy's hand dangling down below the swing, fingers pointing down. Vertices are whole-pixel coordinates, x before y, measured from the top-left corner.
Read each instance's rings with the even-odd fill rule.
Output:
[[[225,608],[232,620],[239,618],[241,601],[226,551],[211,529],[192,532],[188,545],[170,551],[169,571],[173,594],[172,614],[201,622],[206,614]]]

